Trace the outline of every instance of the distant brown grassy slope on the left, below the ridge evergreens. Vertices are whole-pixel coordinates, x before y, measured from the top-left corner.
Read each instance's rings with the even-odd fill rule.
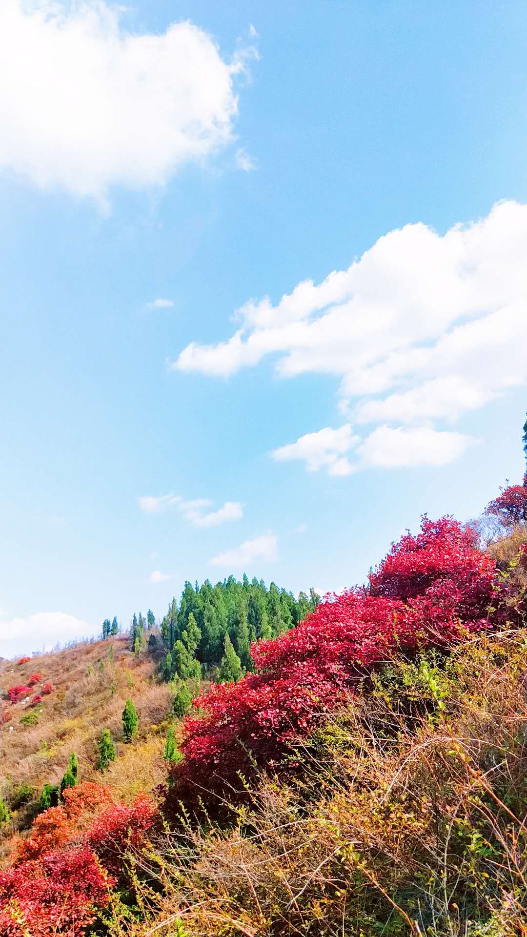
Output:
[[[60,783],[72,752],[79,759],[80,776],[100,781],[97,770],[98,738],[108,728],[117,747],[117,759],[104,780],[123,800],[138,791],[151,791],[164,777],[162,758],[166,718],[173,690],[159,683],[158,659],[162,652],[134,655],[130,640],[120,634],[105,641],[36,655],[23,663],[0,663],[0,791],[11,819],[0,826],[3,851],[12,834],[23,829],[35,814],[44,784]],[[21,698],[11,703],[11,687],[27,687],[31,675],[39,677]],[[41,694],[50,684],[50,692]],[[41,700],[32,705],[35,696]],[[123,740],[122,712],[130,698],[139,715],[137,742]],[[35,722],[36,724],[32,724]]]

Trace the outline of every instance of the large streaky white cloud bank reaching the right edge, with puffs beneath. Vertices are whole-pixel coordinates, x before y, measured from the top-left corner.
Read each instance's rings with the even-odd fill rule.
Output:
[[[406,225],[347,270],[318,285],[299,283],[278,305],[268,297],[249,300],[236,312],[240,324],[230,339],[192,342],[173,368],[229,377],[272,354],[282,376],[339,378],[346,424],[309,433],[275,458],[349,472],[347,456],[324,447],[324,439],[345,436],[354,424],[372,427],[357,447],[362,467],[444,464],[466,449],[467,439],[434,430],[433,422],[451,424],[527,382],[526,258],[527,205],[515,201],[499,202],[489,216],[444,235]],[[400,461],[402,440],[412,463]]]

